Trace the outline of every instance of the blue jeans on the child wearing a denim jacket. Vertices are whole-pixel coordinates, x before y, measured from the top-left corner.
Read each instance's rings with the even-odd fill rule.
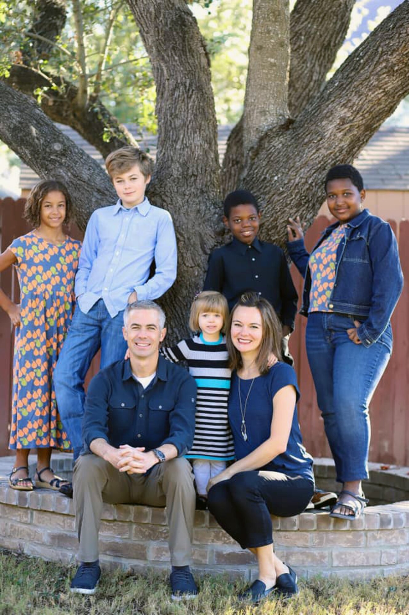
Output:
[[[369,403],[392,351],[391,323],[369,347],[354,344],[347,329],[354,318],[311,312],[306,330],[307,357],[318,407],[324,420],[341,483],[368,478],[371,434]]]

